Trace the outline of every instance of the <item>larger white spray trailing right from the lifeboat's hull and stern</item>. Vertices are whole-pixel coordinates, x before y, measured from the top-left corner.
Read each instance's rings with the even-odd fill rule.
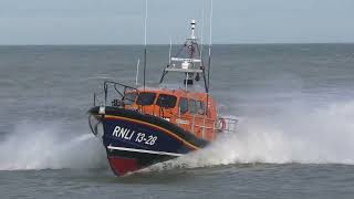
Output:
[[[236,134],[143,171],[230,164],[354,164],[354,102],[243,117]]]

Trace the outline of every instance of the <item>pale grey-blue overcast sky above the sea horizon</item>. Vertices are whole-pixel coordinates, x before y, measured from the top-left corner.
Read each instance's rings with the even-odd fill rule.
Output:
[[[147,42],[208,38],[209,0],[149,0]],[[214,0],[214,43],[354,42],[354,0]],[[142,44],[145,0],[0,0],[0,44]]]

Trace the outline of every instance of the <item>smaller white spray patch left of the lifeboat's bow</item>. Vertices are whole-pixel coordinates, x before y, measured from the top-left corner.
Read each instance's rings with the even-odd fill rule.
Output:
[[[17,125],[0,142],[0,170],[105,167],[104,148],[88,129],[73,135],[63,130],[67,128],[59,123]]]

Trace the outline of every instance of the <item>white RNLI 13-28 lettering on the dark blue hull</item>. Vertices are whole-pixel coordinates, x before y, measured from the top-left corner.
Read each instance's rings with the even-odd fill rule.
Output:
[[[157,142],[157,136],[147,136],[143,133],[137,133],[135,134],[134,130],[129,129],[129,128],[124,128],[121,126],[116,126],[112,133],[112,136],[117,137],[117,138],[122,138],[122,139],[126,139],[126,140],[132,140],[135,143],[143,143],[145,145],[155,145],[155,143]],[[134,137],[134,138],[133,138]]]

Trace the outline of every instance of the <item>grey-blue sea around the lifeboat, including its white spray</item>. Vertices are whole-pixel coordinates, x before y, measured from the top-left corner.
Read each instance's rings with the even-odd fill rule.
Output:
[[[148,46],[148,84],[167,56]],[[237,134],[117,178],[86,111],[103,80],[134,83],[138,57],[0,46],[1,198],[354,198],[354,44],[215,45],[211,94]]]

